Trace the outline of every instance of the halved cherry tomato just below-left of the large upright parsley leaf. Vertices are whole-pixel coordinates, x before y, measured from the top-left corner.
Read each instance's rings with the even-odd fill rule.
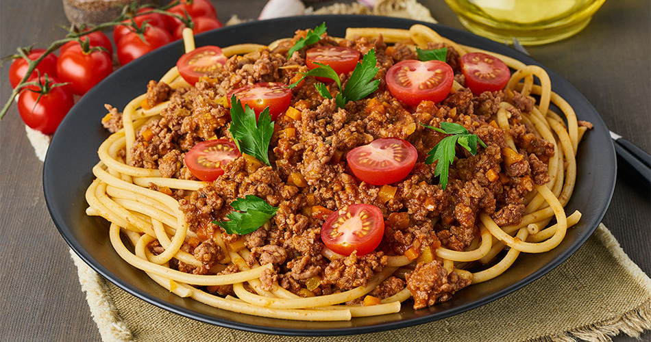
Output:
[[[224,174],[223,166],[240,157],[234,142],[217,139],[199,142],[185,155],[185,164],[201,181],[212,182]]]

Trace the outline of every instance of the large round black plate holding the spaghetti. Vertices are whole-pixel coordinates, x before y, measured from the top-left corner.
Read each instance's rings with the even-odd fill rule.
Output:
[[[256,21],[200,34],[197,46],[222,47],[269,42],[291,37],[296,29],[315,27],[326,21],[328,34],[343,37],[346,27],[408,28],[415,21],[377,16],[302,16]],[[526,64],[538,64],[530,57],[502,44],[457,29],[422,23],[461,44],[508,55]],[[511,293],[532,282],[565,261],[593,233],[608,208],[615,187],[615,150],[606,125],[587,99],[562,77],[548,70],[555,92],[569,102],[580,120],[589,120],[594,129],[587,132],[578,150],[578,175],[572,200],[565,210],[583,213],[581,221],[567,233],[558,248],[544,254],[521,254],[502,276],[467,287],[452,300],[414,311],[404,305],[400,313],[379,317],[360,317],[341,322],[302,322],[254,317],[212,308],[192,299],[169,293],[143,272],[131,267],[114,252],[108,239],[108,224],[84,213],[88,205],[84,191],[93,180],[90,169],[99,160],[97,148],[108,133],[99,123],[106,114],[104,103],[123,108],[145,91],[149,79],[159,79],[175,65],[183,53],[181,42],[162,47],[127,64],[90,90],[63,120],[49,146],[43,167],[43,189],[52,219],[66,242],[90,267],[115,285],[151,304],[186,317],[218,326],[286,335],[340,335],[376,332],[462,313]],[[497,314],[497,313],[496,313]]]

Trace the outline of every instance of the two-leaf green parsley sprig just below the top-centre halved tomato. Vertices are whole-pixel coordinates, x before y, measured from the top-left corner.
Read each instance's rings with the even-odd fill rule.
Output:
[[[334,81],[337,86],[339,86],[339,94],[336,94],[335,97],[336,105],[339,108],[343,108],[343,106],[348,101],[361,100],[368,94],[371,94],[371,92],[378,90],[380,80],[373,80],[373,77],[376,77],[378,70],[380,70],[380,68],[376,67],[377,63],[378,60],[376,59],[376,51],[375,49],[371,49],[366,53],[366,55],[364,55],[364,57],[362,57],[362,62],[357,62],[355,69],[353,70],[352,74],[350,74],[348,83],[346,83],[346,86],[343,89],[341,88],[341,79],[339,79],[339,75],[337,75],[336,72],[330,68],[330,66],[321,63],[315,63],[319,65],[319,68],[314,68],[307,73],[303,73],[303,77],[288,86],[288,88],[294,88],[298,85],[298,83],[300,83],[300,81],[303,81],[303,79],[308,76],[326,77],[328,79],[332,79],[332,81]],[[325,98],[332,98],[332,95],[330,95],[329,92],[328,94],[326,94],[327,91],[323,92],[323,90],[326,90],[325,85],[319,86],[317,83],[316,87],[321,96]]]

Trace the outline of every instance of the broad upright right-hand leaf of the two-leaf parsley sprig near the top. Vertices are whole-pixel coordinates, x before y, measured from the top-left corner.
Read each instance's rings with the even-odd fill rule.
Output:
[[[362,62],[357,62],[353,73],[346,83],[346,87],[343,89],[343,99],[344,103],[348,101],[358,101],[362,98],[365,98],[371,92],[378,90],[378,85],[380,80],[376,79],[373,81],[373,77],[376,77],[378,70],[376,64],[378,60],[376,59],[376,50],[371,49],[369,52],[362,57]],[[339,103],[337,104],[339,105]],[[343,107],[343,105],[339,106]]]

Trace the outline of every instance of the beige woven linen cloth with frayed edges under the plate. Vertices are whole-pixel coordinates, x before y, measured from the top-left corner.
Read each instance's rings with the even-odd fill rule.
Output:
[[[306,13],[377,14],[436,22],[415,0],[379,0],[374,9],[334,4],[316,11],[308,8]],[[228,24],[239,22],[234,16]],[[36,156],[45,159],[49,137],[25,128]],[[603,225],[567,261],[504,298],[419,326],[341,337],[282,337],[201,323],[130,295],[99,276],[72,250],[71,257],[104,342],[602,342],[620,332],[637,337],[651,329],[651,279]]]

